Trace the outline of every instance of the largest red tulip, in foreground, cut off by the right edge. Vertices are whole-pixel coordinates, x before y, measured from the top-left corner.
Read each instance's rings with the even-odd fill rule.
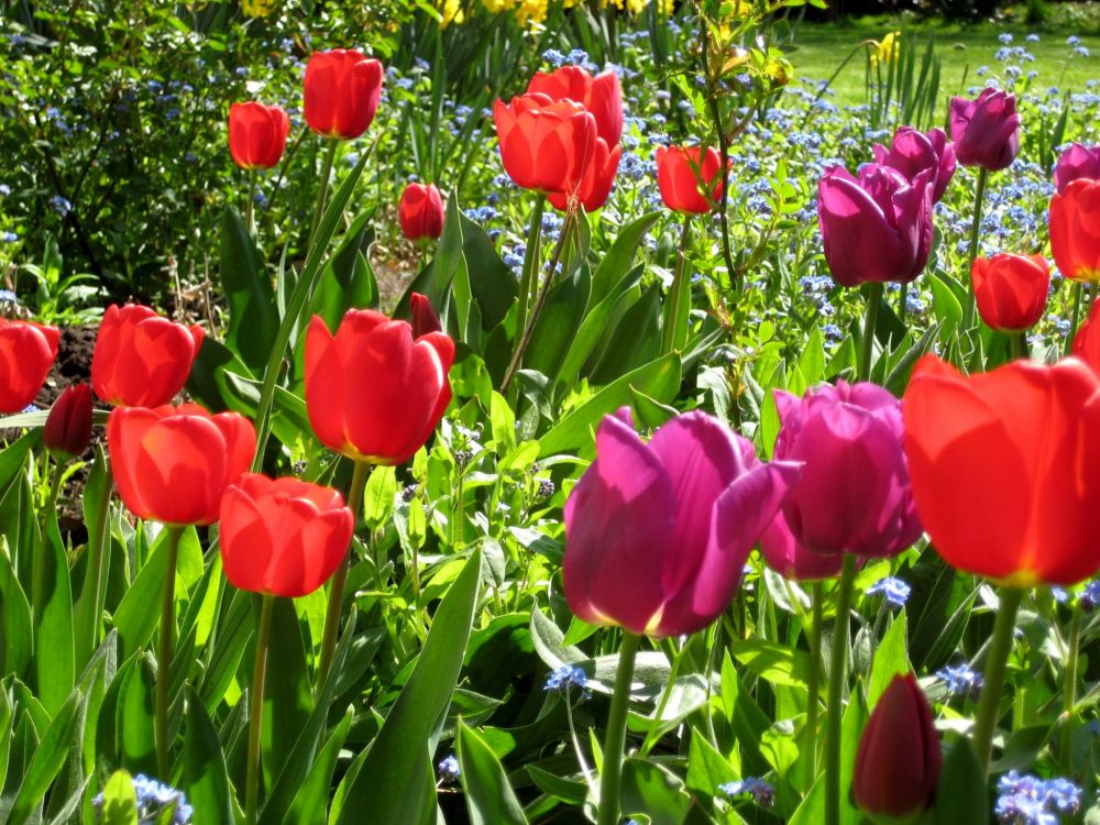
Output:
[[[963,376],[927,355],[902,411],[916,508],[948,564],[1019,587],[1100,570],[1100,377],[1086,364]]]

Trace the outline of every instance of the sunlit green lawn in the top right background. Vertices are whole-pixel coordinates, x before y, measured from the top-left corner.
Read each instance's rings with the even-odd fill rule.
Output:
[[[1052,86],[1074,91],[1085,91],[1086,82],[1100,79],[1100,36],[1080,35],[1066,25],[1035,29],[1022,23],[982,23],[960,25],[948,23],[914,23],[900,18],[864,18],[843,23],[800,24],[793,31],[794,51],[789,55],[799,76],[826,79],[836,72],[853,50],[858,54],[848,62],[833,81],[839,105],[864,102],[865,66],[864,48],[859,44],[868,40],[879,40],[890,31],[904,28],[917,32],[922,42],[926,37],[935,40],[936,54],[941,59],[941,94],[965,92],[967,87],[983,86],[990,77],[998,77],[1004,64],[993,55],[1001,47],[998,36],[1012,35],[1012,46],[1024,46],[1034,55],[1034,63],[1022,64],[1024,74],[1035,70],[1038,75],[1031,81],[1031,88],[1046,90]],[[1035,32],[1037,43],[1025,41]],[[1081,45],[1089,50],[1089,56],[1076,55],[1066,44],[1070,35],[1079,35]],[[923,52],[923,46],[922,46]],[[980,66],[988,66],[988,74],[978,77]],[[1018,82],[1018,90],[1024,88],[1024,79]],[[1096,89],[1100,94],[1100,89]]]

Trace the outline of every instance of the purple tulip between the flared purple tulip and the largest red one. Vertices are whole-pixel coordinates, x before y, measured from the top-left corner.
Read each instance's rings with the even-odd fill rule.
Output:
[[[776,404],[782,426],[772,457],[803,462],[782,509],[794,541],[814,553],[881,558],[921,537],[897,398],[842,381],[801,400],[777,391]]]

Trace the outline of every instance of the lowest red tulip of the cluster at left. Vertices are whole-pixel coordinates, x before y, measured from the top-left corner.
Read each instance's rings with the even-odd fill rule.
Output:
[[[240,590],[297,598],[348,554],[354,519],[334,490],[248,474],[226,488],[219,537],[226,578]]]

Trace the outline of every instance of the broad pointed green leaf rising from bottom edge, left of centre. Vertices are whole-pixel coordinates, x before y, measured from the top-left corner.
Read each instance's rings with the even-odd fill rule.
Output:
[[[475,550],[436,610],[416,668],[348,788],[337,825],[435,818],[429,754],[462,667],[481,566]]]

